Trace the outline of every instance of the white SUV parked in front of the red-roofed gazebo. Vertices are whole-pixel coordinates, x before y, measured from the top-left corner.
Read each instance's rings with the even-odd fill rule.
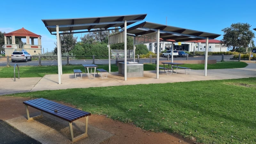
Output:
[[[12,62],[15,61],[31,61],[31,55],[26,51],[12,52]]]

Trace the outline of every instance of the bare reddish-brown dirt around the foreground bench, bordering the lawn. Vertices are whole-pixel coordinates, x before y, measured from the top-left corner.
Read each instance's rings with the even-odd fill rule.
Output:
[[[25,115],[26,111],[22,103],[25,100],[30,99],[0,96],[0,119],[7,120]],[[65,105],[69,104],[65,103]],[[30,110],[30,112],[33,111],[35,110]],[[114,134],[114,136],[101,142],[101,144],[195,144],[195,142],[184,139],[179,135],[143,131],[133,124],[114,121],[106,116],[91,115],[89,124]]]

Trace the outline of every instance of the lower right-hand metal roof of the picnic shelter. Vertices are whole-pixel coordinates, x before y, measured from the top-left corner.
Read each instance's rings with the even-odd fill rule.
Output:
[[[214,39],[220,36],[219,34],[207,33],[186,28],[172,27],[147,21],[142,22],[131,28],[127,28],[127,33],[134,34],[134,36],[141,36],[156,32],[157,29],[160,30],[160,38],[162,38],[163,40],[175,40],[176,42],[201,40],[206,39],[206,37],[208,37],[209,39]]]

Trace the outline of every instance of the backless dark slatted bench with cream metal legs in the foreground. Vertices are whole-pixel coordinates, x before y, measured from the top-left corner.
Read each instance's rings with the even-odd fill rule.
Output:
[[[34,100],[27,100],[27,101],[23,101],[23,103],[25,104],[28,120],[33,120],[36,117],[41,117],[41,116],[43,116],[43,112],[45,112],[45,113],[48,113],[52,116],[56,116],[56,117],[59,117],[59,118],[65,120],[65,121],[68,121],[69,131],[70,131],[72,142],[76,141],[78,139],[81,139],[83,137],[88,136],[87,135],[88,116],[90,116],[91,113],[85,112],[85,111],[82,111],[82,110],[79,110],[79,109],[76,109],[76,108],[68,107],[68,106],[65,106],[65,105],[62,105],[60,103],[57,103],[57,102],[54,102],[54,101],[51,101],[51,100],[47,100],[47,99],[44,99],[44,98],[34,99]],[[30,117],[29,116],[29,111],[28,111],[28,106],[30,106],[32,108],[36,108],[38,110],[41,110],[41,115]],[[85,132],[74,138],[72,122],[77,120],[77,119],[80,119],[82,117],[86,117]]]

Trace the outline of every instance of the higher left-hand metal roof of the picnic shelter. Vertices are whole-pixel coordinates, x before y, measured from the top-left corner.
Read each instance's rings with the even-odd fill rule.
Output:
[[[59,25],[59,31],[75,31],[85,30],[88,32],[95,28],[124,28],[124,21],[127,21],[127,26],[137,21],[144,20],[147,14],[122,15],[122,16],[106,16],[106,17],[90,17],[90,18],[70,18],[70,19],[45,19],[45,27],[52,32],[56,32],[56,25]],[[80,32],[81,33],[81,32]]]

